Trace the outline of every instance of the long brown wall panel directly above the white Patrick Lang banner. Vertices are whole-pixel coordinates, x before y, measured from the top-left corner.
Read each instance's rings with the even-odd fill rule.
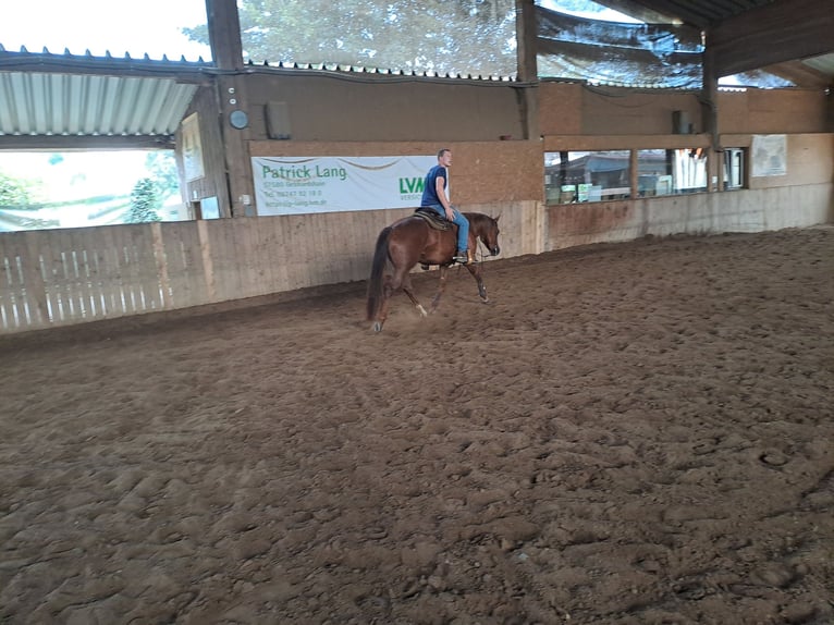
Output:
[[[247,82],[250,138],[269,138],[265,109],[284,102],[301,142],[463,142],[520,138],[510,83],[408,76],[256,74]]]

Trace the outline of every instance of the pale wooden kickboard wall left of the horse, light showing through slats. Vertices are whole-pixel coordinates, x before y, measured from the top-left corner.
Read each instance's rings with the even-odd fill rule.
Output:
[[[397,211],[0,234],[0,333],[367,278]]]

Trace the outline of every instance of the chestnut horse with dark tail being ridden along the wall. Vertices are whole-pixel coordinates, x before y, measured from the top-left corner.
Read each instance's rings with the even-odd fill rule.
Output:
[[[480,212],[464,212],[469,220],[469,249],[477,250],[478,241],[485,245],[491,256],[498,256],[499,226],[496,218]],[[375,332],[382,330],[388,318],[389,298],[402,289],[417,308],[421,317],[428,312],[417,301],[412,286],[409,272],[418,262],[424,269],[431,265],[440,267],[440,286],[431,302],[431,312],[438,309],[440,297],[446,284],[446,270],[454,264],[453,256],[457,248],[457,226],[443,222],[446,230],[439,230],[430,220],[412,215],[384,228],[379,233],[373,252],[370,280],[368,281],[368,321],[373,321]],[[385,270],[391,268],[389,273]],[[464,265],[478,283],[478,295],[487,303],[487,287],[481,279],[481,264]]]

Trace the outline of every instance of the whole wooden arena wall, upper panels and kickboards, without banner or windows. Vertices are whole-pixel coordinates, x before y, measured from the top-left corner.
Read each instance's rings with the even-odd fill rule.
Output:
[[[205,172],[183,185],[184,199],[217,198],[220,216],[234,219],[0,234],[0,332],[365,280],[379,231],[409,209],[256,217],[257,206],[243,201],[254,196],[253,156],[433,155],[450,147],[452,199],[463,210],[500,216],[501,258],[646,235],[834,222],[834,134],[819,94],[720,96],[721,145],[749,148],[755,134],[785,134],[785,175],[753,177],[732,192],[548,206],[545,151],[710,149],[711,136],[670,127],[674,111],[699,120],[697,95],[560,83],[221,78],[188,111],[200,120]],[[535,119],[522,105],[529,89],[538,98]],[[245,128],[228,123],[232,99],[249,111]]]

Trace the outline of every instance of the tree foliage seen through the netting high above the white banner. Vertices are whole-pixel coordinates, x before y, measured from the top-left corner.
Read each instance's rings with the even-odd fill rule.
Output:
[[[514,0],[242,0],[244,57],[385,70],[510,76]],[[208,44],[206,26],[184,28]]]

